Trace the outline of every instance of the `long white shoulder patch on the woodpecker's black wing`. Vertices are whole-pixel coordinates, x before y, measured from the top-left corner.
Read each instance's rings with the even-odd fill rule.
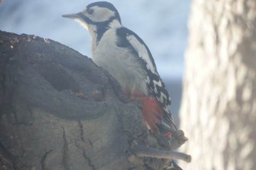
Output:
[[[126,39],[129,41],[129,43],[132,45],[132,47],[138,52],[139,57],[141,57],[146,63],[147,63],[147,69],[151,71],[153,74],[157,74],[155,72],[155,67],[153,66],[153,63],[150,60],[150,57],[148,55],[147,48],[140,43],[140,41],[133,35],[127,35]]]

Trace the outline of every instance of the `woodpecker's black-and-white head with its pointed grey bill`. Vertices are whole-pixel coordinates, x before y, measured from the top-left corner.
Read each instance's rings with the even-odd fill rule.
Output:
[[[64,18],[74,19],[81,23],[87,30],[92,27],[102,27],[116,20],[121,24],[121,19],[115,6],[109,2],[94,2],[86,6],[82,12],[62,15]]]

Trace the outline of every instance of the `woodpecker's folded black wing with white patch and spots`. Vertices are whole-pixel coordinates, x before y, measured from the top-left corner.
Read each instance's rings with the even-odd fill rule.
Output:
[[[147,72],[147,79],[145,79],[147,86],[151,94],[157,98],[158,102],[163,107],[163,121],[169,125],[170,128],[177,130],[169,109],[169,106],[171,105],[171,98],[166,90],[164,82],[159,77],[154,58],[147,45],[138,35],[125,27],[118,28],[116,33],[118,36],[117,46],[130,48],[134,55],[137,55],[138,58],[141,59],[140,62]]]

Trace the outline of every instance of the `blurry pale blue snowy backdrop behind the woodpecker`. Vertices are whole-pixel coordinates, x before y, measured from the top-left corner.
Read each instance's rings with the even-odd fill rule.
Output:
[[[2,0],[0,30],[37,35],[59,41],[91,57],[89,33],[62,14],[81,12],[95,1]],[[190,0],[108,1],[121,15],[122,24],[147,44],[157,70],[172,98],[171,111],[180,106],[183,55],[187,45]]]

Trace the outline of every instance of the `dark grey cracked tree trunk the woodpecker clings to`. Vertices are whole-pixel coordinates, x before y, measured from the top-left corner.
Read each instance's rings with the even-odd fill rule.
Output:
[[[162,169],[138,103],[90,58],[53,40],[0,31],[0,169]]]

